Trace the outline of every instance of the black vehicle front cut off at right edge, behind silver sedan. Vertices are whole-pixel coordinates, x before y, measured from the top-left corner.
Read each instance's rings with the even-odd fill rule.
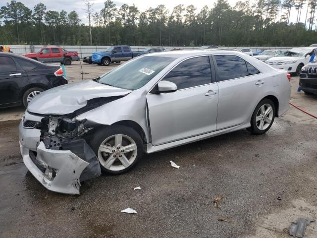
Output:
[[[317,95],[317,61],[302,67],[299,76],[299,86],[305,94]]]

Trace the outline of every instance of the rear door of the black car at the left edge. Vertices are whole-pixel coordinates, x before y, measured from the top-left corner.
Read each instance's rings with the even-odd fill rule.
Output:
[[[10,56],[0,56],[0,105],[10,106],[21,102],[21,91],[28,85],[25,71]]]

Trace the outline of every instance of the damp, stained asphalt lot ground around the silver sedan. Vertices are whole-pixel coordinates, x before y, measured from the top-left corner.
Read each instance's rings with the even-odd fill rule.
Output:
[[[84,64],[84,79],[113,67]],[[66,70],[81,80],[78,62]],[[317,115],[317,97],[297,92],[298,80],[291,102]],[[1,238],[288,238],[291,222],[317,219],[317,119],[292,106],[264,135],[241,130],[147,155],[128,174],[86,182],[80,196],[50,192],[27,171],[23,111],[0,110]],[[127,207],[137,214],[120,213]],[[315,222],[305,238],[316,237]]]

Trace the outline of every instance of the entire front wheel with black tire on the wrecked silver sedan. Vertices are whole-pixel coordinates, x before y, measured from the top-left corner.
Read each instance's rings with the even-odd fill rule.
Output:
[[[131,170],[143,156],[143,141],[132,128],[114,125],[96,132],[91,141],[103,172],[119,175]]]

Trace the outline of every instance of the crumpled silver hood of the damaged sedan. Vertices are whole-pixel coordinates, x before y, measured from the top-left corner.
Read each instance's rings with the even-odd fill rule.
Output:
[[[90,99],[123,96],[130,92],[127,89],[85,80],[55,87],[39,94],[28,105],[28,111],[45,115],[64,115],[85,107]]]

